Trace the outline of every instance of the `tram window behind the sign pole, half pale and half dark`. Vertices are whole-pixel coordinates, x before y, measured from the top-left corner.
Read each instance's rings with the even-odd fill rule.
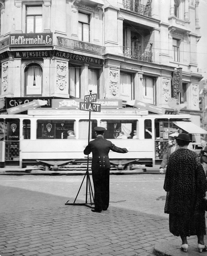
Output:
[[[96,120],[91,120],[90,123],[90,139],[95,139],[95,131],[94,127],[97,126]],[[79,121],[79,139],[88,139],[88,129],[89,129],[89,121],[88,120],[80,120]]]

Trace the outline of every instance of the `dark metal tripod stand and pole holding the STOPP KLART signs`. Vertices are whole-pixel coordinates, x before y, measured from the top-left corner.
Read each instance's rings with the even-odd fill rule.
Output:
[[[90,95],[91,95],[91,92],[92,90],[90,90]],[[89,141],[90,141],[90,122],[91,122],[91,111],[89,111],[89,132],[88,132],[88,144],[89,144]],[[82,180],[82,183],[81,183],[81,186],[78,190],[78,194],[80,192],[80,189],[82,187],[82,184],[84,182],[84,179],[85,179],[85,176],[86,176],[86,193],[85,193],[85,203],[75,203],[77,197],[78,197],[78,194],[77,196],[75,197],[75,200],[73,203],[68,203],[69,200],[66,202],[65,205],[85,205],[85,206],[88,206],[90,208],[94,208],[92,207],[92,205],[94,205],[94,202],[92,202],[91,200],[91,194],[92,194],[92,197],[93,197],[93,201],[94,201],[94,196],[93,196],[93,191],[92,191],[92,186],[91,186],[91,180],[90,180],[90,176],[89,176],[89,158],[92,158],[92,157],[89,157],[88,156],[85,156],[85,158],[87,158],[87,170],[86,170],[86,173],[83,177],[83,180]],[[90,204],[88,204],[88,187],[89,187],[89,194],[90,194]]]

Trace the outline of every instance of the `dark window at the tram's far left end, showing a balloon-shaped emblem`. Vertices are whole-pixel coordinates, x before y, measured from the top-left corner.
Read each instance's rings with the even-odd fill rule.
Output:
[[[19,140],[19,119],[17,118],[6,118],[7,124],[7,141],[18,141]]]

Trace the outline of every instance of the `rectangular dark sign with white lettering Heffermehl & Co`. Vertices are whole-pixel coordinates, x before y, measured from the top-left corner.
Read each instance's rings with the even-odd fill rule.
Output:
[[[52,46],[52,33],[10,34],[9,46]]]

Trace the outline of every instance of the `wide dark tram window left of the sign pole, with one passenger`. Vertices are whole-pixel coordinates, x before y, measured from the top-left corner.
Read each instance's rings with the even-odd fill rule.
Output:
[[[75,138],[75,120],[37,120],[37,139],[67,139],[69,131]]]

